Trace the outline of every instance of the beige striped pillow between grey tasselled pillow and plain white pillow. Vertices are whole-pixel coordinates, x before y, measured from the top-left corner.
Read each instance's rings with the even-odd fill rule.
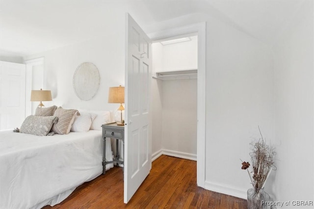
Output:
[[[57,134],[68,134],[76,114],[79,115],[77,109],[63,109],[59,106],[53,114],[58,117],[58,121],[53,124],[52,131]]]

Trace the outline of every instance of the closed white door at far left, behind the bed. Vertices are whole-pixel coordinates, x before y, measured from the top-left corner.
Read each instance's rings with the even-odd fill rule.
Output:
[[[0,130],[20,128],[25,119],[24,64],[0,61]]]

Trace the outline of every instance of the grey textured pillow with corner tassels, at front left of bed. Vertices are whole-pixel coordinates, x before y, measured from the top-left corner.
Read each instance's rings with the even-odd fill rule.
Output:
[[[28,116],[20,129],[21,133],[30,133],[37,136],[46,136],[54,123],[56,116]]]

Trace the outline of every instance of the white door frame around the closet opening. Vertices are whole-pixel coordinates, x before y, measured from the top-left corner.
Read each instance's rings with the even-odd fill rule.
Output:
[[[152,42],[197,33],[197,185],[205,188],[206,174],[206,22],[149,33]]]

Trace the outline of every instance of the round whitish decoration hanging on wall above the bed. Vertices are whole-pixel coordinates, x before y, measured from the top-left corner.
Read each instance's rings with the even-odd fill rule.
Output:
[[[93,63],[83,62],[76,69],[73,76],[73,88],[79,99],[88,101],[92,99],[99,88],[100,75]]]

